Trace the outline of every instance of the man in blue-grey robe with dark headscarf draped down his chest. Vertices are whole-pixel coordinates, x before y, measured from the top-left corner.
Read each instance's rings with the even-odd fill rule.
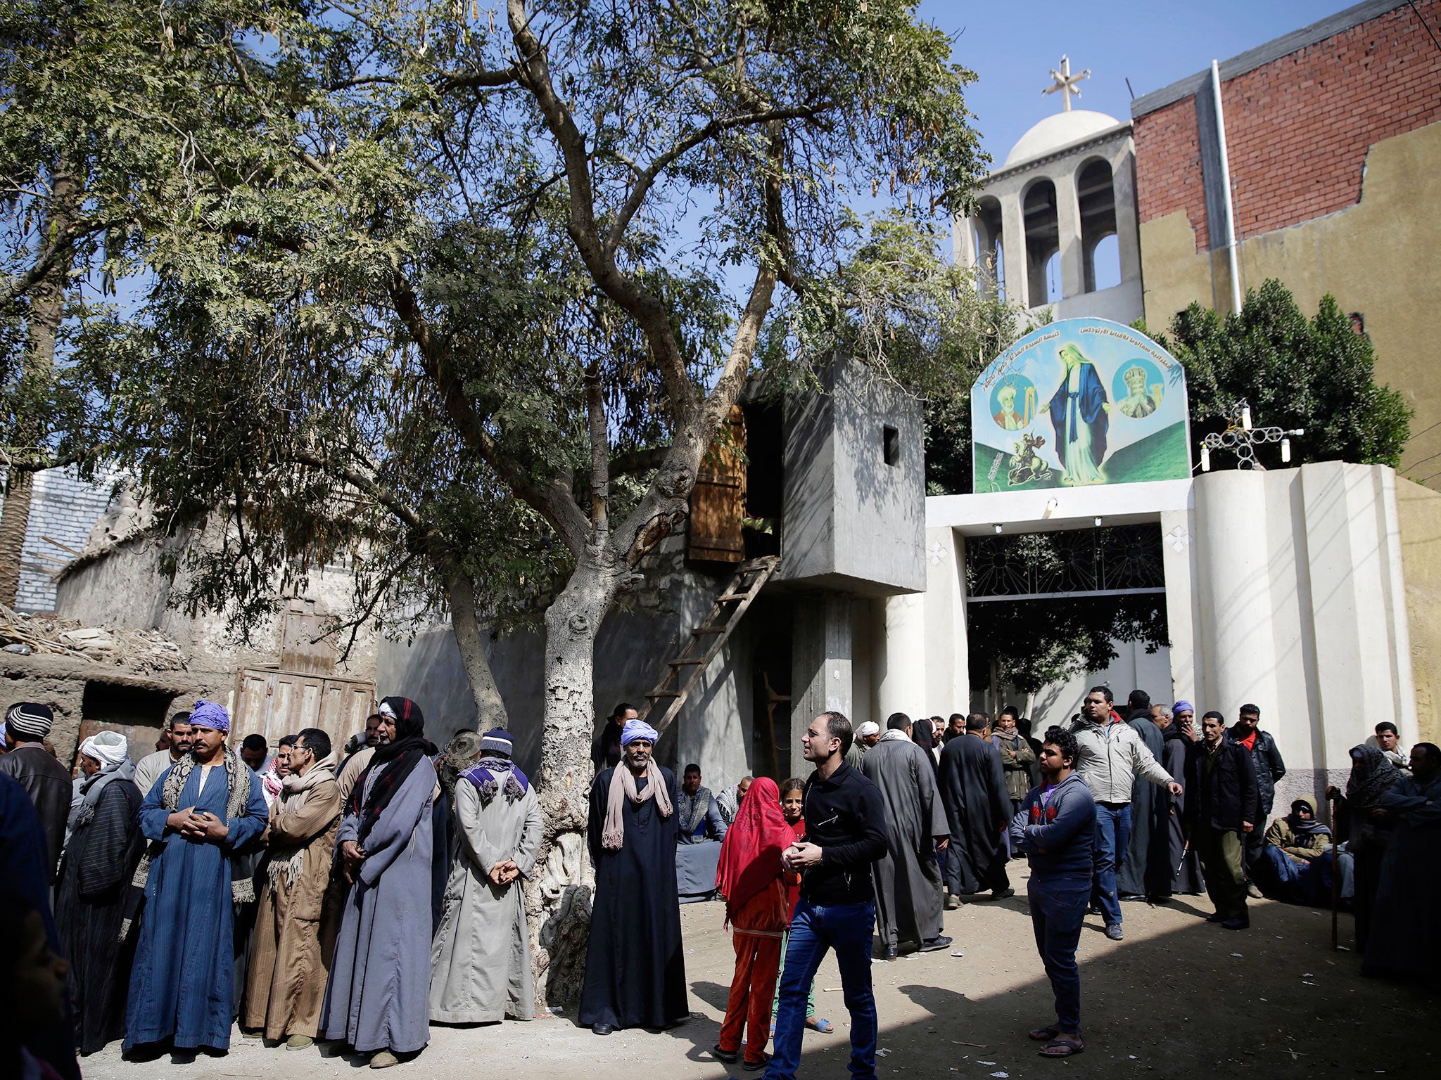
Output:
[[[435,747],[421,708],[388,697],[385,729],[346,802],[336,844],[346,881],[321,1035],[399,1064],[429,1041],[431,845]]]

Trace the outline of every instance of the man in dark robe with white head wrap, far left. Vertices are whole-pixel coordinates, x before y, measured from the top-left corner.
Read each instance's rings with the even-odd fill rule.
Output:
[[[125,736],[92,734],[81,743],[79,760],[84,776],[71,806],[55,923],[69,963],[66,986],[79,1051],[94,1054],[125,1034],[125,988],[135,948],[133,936],[120,940],[120,927],[144,838]]]

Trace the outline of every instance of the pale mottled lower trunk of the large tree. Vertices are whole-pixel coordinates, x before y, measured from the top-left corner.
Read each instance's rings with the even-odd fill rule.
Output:
[[[595,874],[585,842],[591,732],[595,721],[595,636],[624,576],[624,560],[588,547],[546,609],[545,733],[537,793],[545,838],[526,881],[536,1011],[574,1009],[585,978]],[[608,563],[608,564],[607,564]]]

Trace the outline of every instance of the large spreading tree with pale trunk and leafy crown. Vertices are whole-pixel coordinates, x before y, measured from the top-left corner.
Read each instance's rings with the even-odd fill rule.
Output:
[[[893,0],[174,10],[156,55],[193,72],[208,134],[146,222],[146,304],[76,343],[84,400],[157,520],[223,507],[196,605],[244,624],[277,570],[346,553],[357,616],[450,606],[483,714],[481,619],[543,609],[532,899],[563,998],[601,621],[683,520],[762,334],[883,361],[974,307],[915,228],[973,184],[970,75]],[[912,213],[878,236],[847,203],[882,189]]]

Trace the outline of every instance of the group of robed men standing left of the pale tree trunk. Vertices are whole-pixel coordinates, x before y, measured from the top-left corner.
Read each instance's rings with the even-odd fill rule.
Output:
[[[440,753],[419,706],[388,697],[346,747],[307,727],[271,753],[232,747],[200,700],[140,762],[117,732],[82,740],[72,782],[43,749],[52,721],[13,706],[0,756],[0,907],[39,916],[40,968],[63,982],[53,1030],[9,1032],[35,1076],[75,1077],[76,1050],[114,1040],[141,1060],[225,1051],[236,1022],[383,1068],[432,1021],[533,1015],[517,883],[542,822],[507,732]]]

